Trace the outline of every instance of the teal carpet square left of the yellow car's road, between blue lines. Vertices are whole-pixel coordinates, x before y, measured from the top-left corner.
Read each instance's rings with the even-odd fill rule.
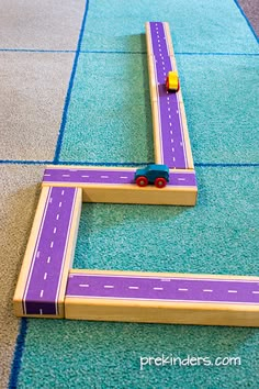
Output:
[[[81,54],[60,159],[151,162],[149,101],[146,55]]]

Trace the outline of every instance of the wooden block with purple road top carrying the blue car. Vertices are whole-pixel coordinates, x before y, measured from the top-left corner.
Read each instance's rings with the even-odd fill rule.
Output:
[[[194,205],[196,179],[194,170],[170,170],[169,184],[139,188],[134,184],[135,169],[112,167],[57,167],[44,173],[43,187],[71,187],[82,189],[83,202]]]

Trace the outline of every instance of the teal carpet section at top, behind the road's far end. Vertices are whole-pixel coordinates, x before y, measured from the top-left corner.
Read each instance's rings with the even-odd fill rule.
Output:
[[[255,53],[258,46],[232,0],[95,0],[90,3],[85,51],[143,51],[148,21],[168,21],[176,52]]]

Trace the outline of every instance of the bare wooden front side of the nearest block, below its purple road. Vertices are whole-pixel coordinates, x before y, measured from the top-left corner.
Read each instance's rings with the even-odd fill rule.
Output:
[[[65,318],[159,324],[259,326],[259,307],[66,297]]]

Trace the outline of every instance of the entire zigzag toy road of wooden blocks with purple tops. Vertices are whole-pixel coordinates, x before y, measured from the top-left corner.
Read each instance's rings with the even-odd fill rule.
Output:
[[[165,188],[134,182],[135,169],[52,166],[20,273],[18,316],[259,326],[259,278],[71,270],[83,202],[194,205],[196,180],[181,90],[167,91],[176,70],[169,26],[146,23],[156,164]],[[180,237],[179,237],[180,238]],[[159,247],[158,247],[159,248]]]

